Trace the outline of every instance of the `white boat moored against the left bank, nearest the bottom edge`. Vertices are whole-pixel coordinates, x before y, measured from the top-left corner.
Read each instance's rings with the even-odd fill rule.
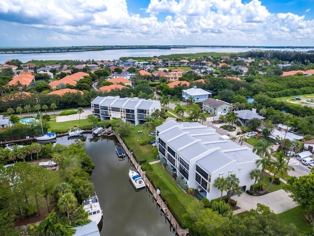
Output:
[[[96,192],[95,196],[89,196],[83,202],[83,209],[88,212],[88,219],[95,221],[97,225],[100,223],[103,218],[103,210],[100,207]]]

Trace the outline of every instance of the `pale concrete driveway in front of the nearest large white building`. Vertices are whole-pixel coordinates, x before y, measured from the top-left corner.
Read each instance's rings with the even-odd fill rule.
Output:
[[[288,196],[288,193],[282,189],[262,196],[251,196],[247,193],[242,193],[240,197],[233,196],[231,199],[237,201],[236,205],[242,209],[256,209],[257,204],[261,203],[268,206],[276,214],[298,206],[292,201],[292,198]]]

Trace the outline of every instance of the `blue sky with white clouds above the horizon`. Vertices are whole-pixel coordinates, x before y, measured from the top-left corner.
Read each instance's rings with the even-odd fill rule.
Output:
[[[314,46],[313,11],[314,0],[1,0],[0,47]]]

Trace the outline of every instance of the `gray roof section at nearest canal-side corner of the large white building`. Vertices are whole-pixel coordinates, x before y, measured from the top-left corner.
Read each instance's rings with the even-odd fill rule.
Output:
[[[220,150],[216,150],[196,161],[202,169],[206,170],[210,174],[231,162],[233,162],[233,160]]]

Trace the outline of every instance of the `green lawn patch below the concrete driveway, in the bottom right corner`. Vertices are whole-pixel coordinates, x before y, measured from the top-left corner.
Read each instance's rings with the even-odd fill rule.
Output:
[[[305,210],[301,207],[294,207],[283,213],[277,214],[279,220],[284,224],[293,223],[301,233],[309,232],[309,223],[304,217]]]

